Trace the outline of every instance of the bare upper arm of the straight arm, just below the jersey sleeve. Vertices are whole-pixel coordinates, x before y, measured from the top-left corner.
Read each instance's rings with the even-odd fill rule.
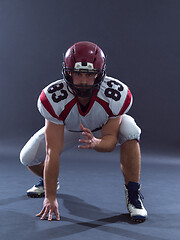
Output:
[[[64,143],[64,125],[57,125],[45,120],[46,152],[60,155]]]

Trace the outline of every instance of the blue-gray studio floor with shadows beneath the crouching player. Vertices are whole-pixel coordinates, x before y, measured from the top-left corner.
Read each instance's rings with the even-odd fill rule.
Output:
[[[35,214],[43,199],[26,189],[38,181],[19,163],[21,146],[0,149],[0,239],[177,240],[180,238],[180,158],[142,154],[142,194],[148,219],[130,221],[118,151],[101,154],[70,151],[61,158],[58,191],[61,221],[41,221]]]

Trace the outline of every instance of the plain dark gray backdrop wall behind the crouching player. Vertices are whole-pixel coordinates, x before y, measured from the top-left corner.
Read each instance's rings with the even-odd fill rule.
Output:
[[[62,53],[89,40],[131,89],[142,146],[178,150],[179,13],[178,0],[0,0],[0,141],[24,143],[43,125],[42,88],[61,77]]]

